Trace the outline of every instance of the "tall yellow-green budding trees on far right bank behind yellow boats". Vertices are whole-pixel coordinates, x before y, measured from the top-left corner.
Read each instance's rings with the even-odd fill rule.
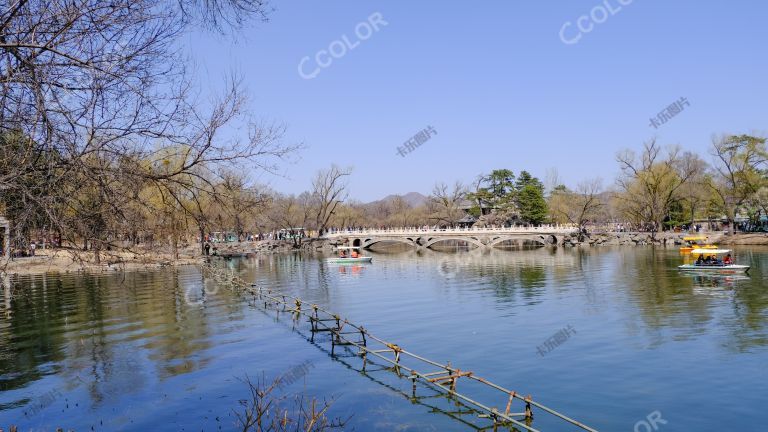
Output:
[[[712,163],[678,147],[662,147],[655,140],[636,154],[617,155],[621,176],[615,199],[620,214],[637,226],[657,232],[665,227],[694,224],[696,219],[725,216],[733,233],[737,216],[758,222],[766,215],[761,203],[768,187],[766,139],[724,135],[713,139]]]

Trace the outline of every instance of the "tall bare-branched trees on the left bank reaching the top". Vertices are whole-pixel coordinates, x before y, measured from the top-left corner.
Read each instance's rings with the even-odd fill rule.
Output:
[[[258,195],[229,175],[271,171],[296,146],[249,119],[236,79],[197,100],[179,43],[268,12],[262,0],[20,0],[0,12],[0,206],[16,238],[55,232],[98,259],[117,239],[205,232],[211,209],[242,226]]]

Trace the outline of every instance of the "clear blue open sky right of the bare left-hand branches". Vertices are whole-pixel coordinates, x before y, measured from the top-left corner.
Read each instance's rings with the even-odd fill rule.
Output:
[[[186,43],[204,91],[238,75],[250,114],[305,146],[281,175],[251,173],[280,192],[308,190],[331,164],[353,168],[350,197],[363,202],[498,168],[608,187],[622,149],[656,138],[709,160],[713,135],[768,130],[766,2],[272,6],[267,23]],[[682,111],[651,125],[681,98]],[[435,135],[398,154],[429,126]]]

